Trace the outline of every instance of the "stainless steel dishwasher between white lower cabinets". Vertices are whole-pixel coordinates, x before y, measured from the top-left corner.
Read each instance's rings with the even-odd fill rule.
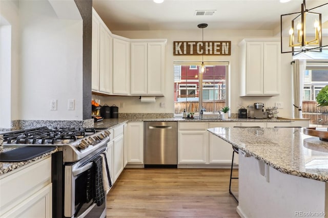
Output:
[[[145,167],[177,167],[177,122],[144,122]]]

